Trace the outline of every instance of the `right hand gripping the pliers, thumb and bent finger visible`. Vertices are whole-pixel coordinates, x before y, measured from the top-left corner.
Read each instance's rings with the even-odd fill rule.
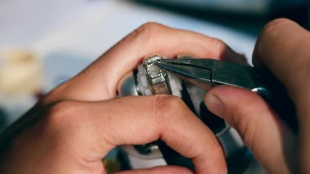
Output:
[[[216,86],[205,95],[206,106],[236,128],[268,173],[310,173],[310,33],[288,19],[271,21],[256,42],[253,65],[270,69],[286,85],[298,135],[247,90]]]

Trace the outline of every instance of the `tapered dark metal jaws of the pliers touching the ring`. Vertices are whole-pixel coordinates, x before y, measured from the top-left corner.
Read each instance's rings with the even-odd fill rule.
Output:
[[[253,67],[214,59],[161,59],[156,65],[202,89],[206,84],[226,84],[248,90],[262,85],[262,78]]]

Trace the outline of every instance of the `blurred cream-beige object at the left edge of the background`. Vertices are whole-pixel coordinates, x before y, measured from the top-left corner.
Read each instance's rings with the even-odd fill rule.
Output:
[[[42,66],[27,50],[10,50],[0,56],[0,94],[8,97],[35,94],[42,89]]]

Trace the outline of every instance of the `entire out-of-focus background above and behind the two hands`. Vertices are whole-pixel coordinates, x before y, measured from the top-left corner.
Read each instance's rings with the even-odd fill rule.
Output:
[[[249,63],[262,27],[309,29],[308,0],[0,0],[0,131],[145,22],[226,42]]]

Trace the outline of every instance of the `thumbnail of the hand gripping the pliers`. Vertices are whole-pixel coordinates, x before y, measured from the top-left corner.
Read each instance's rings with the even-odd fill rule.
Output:
[[[223,103],[218,97],[209,95],[204,102],[209,111],[221,117],[223,113]]]

